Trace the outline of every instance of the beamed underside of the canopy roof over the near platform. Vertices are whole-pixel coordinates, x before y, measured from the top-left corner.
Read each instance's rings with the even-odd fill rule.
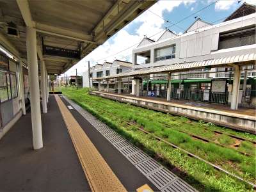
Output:
[[[0,42],[26,62],[26,26],[37,32],[38,58],[49,74],[61,74],[103,44],[156,1],[132,0],[0,0]],[[10,35],[8,28],[18,29]],[[71,49],[78,58],[44,54],[42,47]],[[64,50],[65,51],[65,50]]]

